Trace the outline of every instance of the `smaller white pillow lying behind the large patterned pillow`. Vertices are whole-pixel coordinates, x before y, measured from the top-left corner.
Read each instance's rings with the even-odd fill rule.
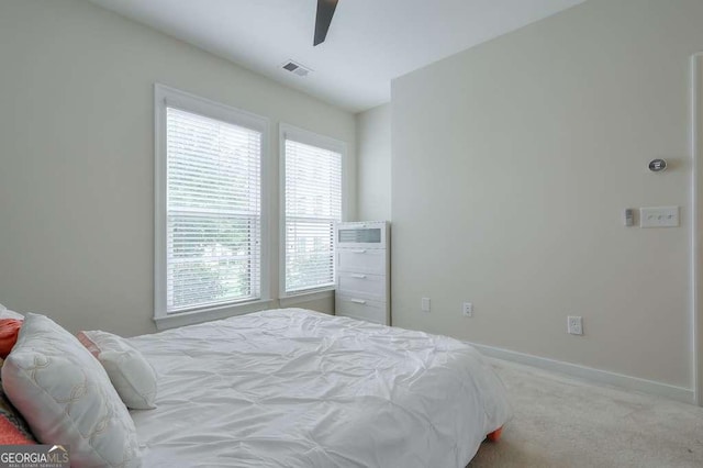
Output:
[[[127,408],[156,408],[156,372],[138,349],[123,337],[101,331],[80,332],[78,341],[100,360]]]

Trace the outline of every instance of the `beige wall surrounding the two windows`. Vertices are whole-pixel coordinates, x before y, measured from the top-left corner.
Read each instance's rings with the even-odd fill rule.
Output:
[[[279,122],[347,142],[356,174],[353,114],[85,1],[0,2],[0,302],[72,331],[155,330],[155,81],[270,120],[274,212]]]

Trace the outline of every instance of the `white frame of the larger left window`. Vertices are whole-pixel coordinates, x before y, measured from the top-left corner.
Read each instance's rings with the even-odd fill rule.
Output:
[[[227,304],[219,304],[201,309],[193,309],[179,313],[167,313],[166,308],[166,268],[167,268],[167,145],[166,145],[166,108],[178,108],[186,112],[200,114],[210,119],[244,126],[261,133],[261,231],[260,231],[260,298],[242,300]],[[231,315],[255,312],[268,309],[272,303],[270,296],[270,191],[268,183],[270,168],[267,155],[269,140],[269,121],[266,118],[245,112],[189,92],[161,85],[154,85],[155,114],[155,208],[154,208],[154,321],[159,330],[174,326],[189,325],[209,320],[223,319]]]

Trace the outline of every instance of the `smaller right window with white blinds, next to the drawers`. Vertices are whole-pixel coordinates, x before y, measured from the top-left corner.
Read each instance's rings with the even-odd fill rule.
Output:
[[[281,125],[283,296],[334,285],[344,144]]]

